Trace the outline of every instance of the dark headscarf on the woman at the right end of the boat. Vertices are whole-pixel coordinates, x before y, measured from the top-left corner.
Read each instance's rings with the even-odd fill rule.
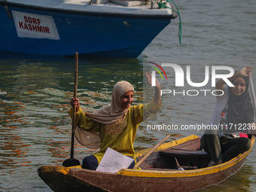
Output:
[[[227,123],[251,123],[254,121],[254,108],[248,93],[248,77],[241,77],[245,81],[245,93],[236,96],[229,87]]]

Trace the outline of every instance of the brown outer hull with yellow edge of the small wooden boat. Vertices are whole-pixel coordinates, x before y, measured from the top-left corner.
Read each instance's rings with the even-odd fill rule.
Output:
[[[198,140],[190,136],[178,142],[188,140],[189,143],[194,139]],[[254,138],[251,141],[253,145]],[[75,167],[42,166],[38,174],[54,191],[191,191],[218,184],[236,173],[250,151],[218,166],[184,171],[122,169],[112,174]]]

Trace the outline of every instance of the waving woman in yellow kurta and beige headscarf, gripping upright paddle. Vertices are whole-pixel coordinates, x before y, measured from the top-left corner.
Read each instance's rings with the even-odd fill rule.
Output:
[[[151,84],[151,74],[146,73]],[[133,143],[139,124],[146,117],[158,111],[161,104],[160,84],[156,79],[154,99],[146,105],[132,105],[133,85],[127,81],[119,81],[114,85],[111,105],[100,108],[94,113],[84,113],[79,100],[72,98],[70,105],[77,108],[75,137],[87,148],[99,148],[96,154],[85,157],[84,169],[96,170],[107,148],[133,158],[132,169],[136,164]],[[69,111],[72,117],[72,109]]]

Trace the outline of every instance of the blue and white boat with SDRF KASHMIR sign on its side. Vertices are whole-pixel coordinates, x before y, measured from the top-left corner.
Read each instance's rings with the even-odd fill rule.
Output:
[[[175,16],[153,1],[0,0],[0,55],[137,57]]]

